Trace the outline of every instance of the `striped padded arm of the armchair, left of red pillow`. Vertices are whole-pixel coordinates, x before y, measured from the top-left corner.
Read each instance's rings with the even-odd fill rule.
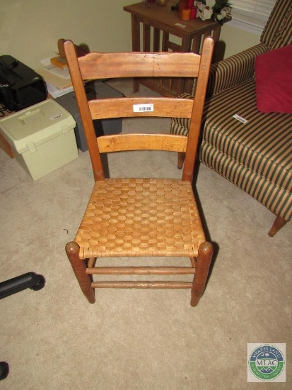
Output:
[[[255,72],[256,57],[264,52],[267,52],[267,47],[259,43],[211,65],[207,96],[216,95],[250,79]]]

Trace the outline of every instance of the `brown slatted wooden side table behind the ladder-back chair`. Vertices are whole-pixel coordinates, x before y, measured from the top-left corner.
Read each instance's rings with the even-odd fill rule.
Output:
[[[147,6],[144,1],[124,6],[124,11],[132,17],[132,50],[134,52],[197,52],[202,48],[202,40],[212,36],[217,42],[221,25],[217,21],[202,21],[200,18],[182,21],[171,6],[177,1],[170,0],[167,6]],[[180,38],[181,44],[170,40],[170,35]],[[179,78],[134,79],[134,92],[139,84],[153,89],[163,96],[178,96],[183,92],[192,93],[193,79]]]

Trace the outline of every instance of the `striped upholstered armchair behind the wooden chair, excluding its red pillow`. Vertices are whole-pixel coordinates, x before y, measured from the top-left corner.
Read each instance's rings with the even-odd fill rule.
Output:
[[[259,111],[255,60],[291,45],[291,0],[276,1],[260,42],[211,66],[199,160],[276,215],[269,231],[273,236],[292,219],[292,114]],[[170,131],[187,135],[187,120],[173,118]],[[180,155],[178,166],[182,164]]]

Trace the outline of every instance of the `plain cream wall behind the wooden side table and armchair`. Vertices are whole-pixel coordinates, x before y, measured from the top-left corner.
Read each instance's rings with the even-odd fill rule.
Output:
[[[57,52],[57,40],[86,43],[90,50],[132,50],[131,17],[123,6],[138,0],[2,0],[0,55],[12,55],[37,69]],[[222,27],[224,57],[259,42],[259,35]]]

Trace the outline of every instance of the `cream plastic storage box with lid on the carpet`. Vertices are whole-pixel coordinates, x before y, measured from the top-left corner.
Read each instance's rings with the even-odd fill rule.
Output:
[[[16,160],[34,179],[78,157],[73,116],[52,99],[0,120]]]

